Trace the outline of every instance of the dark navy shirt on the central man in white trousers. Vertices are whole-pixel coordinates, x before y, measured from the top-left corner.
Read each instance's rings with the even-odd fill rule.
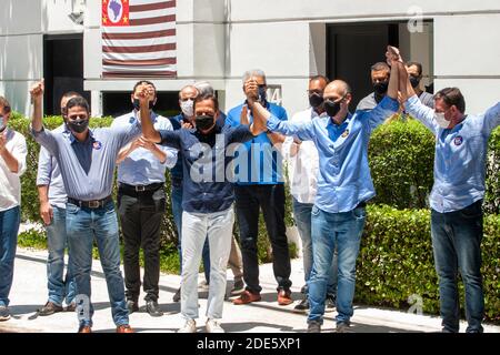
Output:
[[[234,150],[253,138],[248,125],[230,128],[216,124],[210,134],[196,129],[161,130],[161,144],[179,150],[182,159],[182,210],[190,213],[216,213],[231,207],[234,201],[230,163]]]

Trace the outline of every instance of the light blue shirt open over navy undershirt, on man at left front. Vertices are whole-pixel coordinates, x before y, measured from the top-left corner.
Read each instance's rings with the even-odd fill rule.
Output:
[[[84,142],[68,131],[31,133],[58,161],[68,197],[92,201],[111,195],[118,152],[141,134],[141,126],[91,129]]]

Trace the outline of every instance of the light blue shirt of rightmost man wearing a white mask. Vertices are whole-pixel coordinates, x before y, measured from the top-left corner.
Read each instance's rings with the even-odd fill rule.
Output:
[[[434,110],[414,95],[406,110],[436,135],[434,185],[430,205],[440,213],[462,210],[484,197],[488,138],[500,125],[500,102],[481,115],[467,115],[453,129],[434,121]]]

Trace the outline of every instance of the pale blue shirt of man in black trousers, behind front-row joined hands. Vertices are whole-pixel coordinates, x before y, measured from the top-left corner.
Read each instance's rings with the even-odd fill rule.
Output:
[[[169,119],[151,113],[151,120],[157,131],[172,131]],[[114,119],[111,128],[128,128],[136,122],[137,111],[134,110]],[[163,163],[147,149],[138,148],[118,164],[118,181],[133,186],[164,182],[166,169],[176,165],[177,150],[163,145],[159,148],[167,154]]]

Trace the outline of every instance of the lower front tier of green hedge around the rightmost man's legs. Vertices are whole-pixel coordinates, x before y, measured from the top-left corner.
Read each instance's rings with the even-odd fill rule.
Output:
[[[409,308],[419,295],[423,312],[439,314],[429,210],[369,206],[357,267],[356,301],[370,305]],[[486,316],[500,322],[500,216],[486,215],[482,273]],[[463,300],[463,284],[460,284]],[[462,303],[463,304],[463,303]]]

